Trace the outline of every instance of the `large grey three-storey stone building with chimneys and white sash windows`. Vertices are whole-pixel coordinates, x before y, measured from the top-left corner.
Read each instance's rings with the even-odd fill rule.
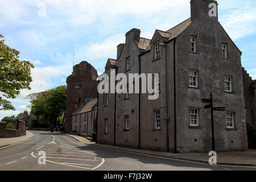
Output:
[[[209,15],[209,7],[216,7],[216,16],[212,11]],[[159,73],[152,78],[159,98],[99,94],[97,142],[171,152],[211,151],[211,111],[204,109],[202,100],[212,93],[213,107],[225,107],[213,111],[215,150],[247,150],[245,121],[255,116],[255,109],[254,115],[246,115],[242,52],[218,22],[217,2],[192,0],[191,18],[170,30],[156,30],[151,40],[140,33],[135,28],[126,33],[117,59],[108,59],[105,71]],[[254,96],[250,107],[254,103],[255,108],[255,84],[249,94]]]

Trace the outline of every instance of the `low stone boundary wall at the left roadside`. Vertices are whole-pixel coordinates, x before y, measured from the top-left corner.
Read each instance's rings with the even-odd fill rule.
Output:
[[[0,122],[0,138],[22,137],[27,134],[26,122],[17,120],[16,129],[6,129],[6,122]]]

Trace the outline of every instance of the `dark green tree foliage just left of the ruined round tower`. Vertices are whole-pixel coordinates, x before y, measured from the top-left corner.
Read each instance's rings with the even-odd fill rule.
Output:
[[[43,118],[45,123],[56,124],[57,119],[65,113],[67,86],[58,86],[43,93],[31,94],[28,98],[34,98],[30,101],[31,114],[38,118],[38,121],[39,118]]]

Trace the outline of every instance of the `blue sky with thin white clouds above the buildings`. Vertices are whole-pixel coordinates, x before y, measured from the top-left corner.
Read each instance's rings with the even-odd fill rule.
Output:
[[[30,104],[30,93],[66,84],[75,64],[88,61],[104,72],[116,58],[119,43],[131,28],[151,39],[190,17],[190,0],[0,0],[0,34],[20,51],[20,60],[35,65],[31,90],[21,90],[15,111],[0,111],[0,119],[17,115]],[[218,19],[242,53],[242,66],[256,79],[256,2],[219,0]],[[0,93],[0,96],[2,94]]]

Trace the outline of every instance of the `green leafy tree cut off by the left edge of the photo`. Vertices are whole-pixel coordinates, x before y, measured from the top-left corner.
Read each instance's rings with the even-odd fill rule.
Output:
[[[4,93],[3,96],[15,98],[20,89],[31,89],[31,68],[34,65],[29,61],[19,60],[19,51],[0,40],[0,92]]]

